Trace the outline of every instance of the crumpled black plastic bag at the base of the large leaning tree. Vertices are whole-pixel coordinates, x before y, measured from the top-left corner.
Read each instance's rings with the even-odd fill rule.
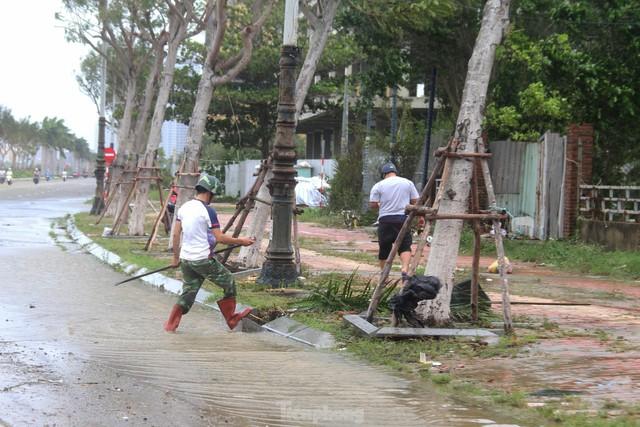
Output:
[[[424,328],[424,323],[416,317],[416,307],[420,301],[434,299],[442,283],[435,276],[411,276],[404,288],[389,298],[389,308],[397,322],[404,317],[414,328]]]

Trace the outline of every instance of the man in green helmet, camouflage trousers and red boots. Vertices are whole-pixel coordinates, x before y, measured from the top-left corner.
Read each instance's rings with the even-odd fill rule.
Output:
[[[224,289],[224,297],[218,301],[220,311],[230,329],[236,327],[251,309],[236,313],[235,279],[214,256],[213,248],[217,242],[249,246],[254,239],[230,237],[220,230],[215,209],[209,204],[217,178],[203,174],[196,184],[196,197],[178,210],[173,229],[173,267],[180,266],[182,271],[182,294],[164,324],[167,332],[175,332],[180,319],[187,314],[196,299],[196,294],[205,279],[209,279]],[[182,245],[181,245],[182,243]]]

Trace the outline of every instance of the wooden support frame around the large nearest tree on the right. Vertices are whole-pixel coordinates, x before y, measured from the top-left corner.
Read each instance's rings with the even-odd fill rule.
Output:
[[[512,331],[512,322],[511,322],[511,304],[509,301],[509,283],[506,276],[506,268],[505,268],[505,259],[504,259],[504,247],[502,242],[502,234],[500,233],[501,226],[500,220],[506,219],[506,215],[498,212],[498,208],[496,207],[496,196],[493,190],[493,184],[491,181],[491,174],[489,173],[489,165],[487,163],[487,159],[491,156],[490,153],[464,153],[457,152],[458,142],[456,140],[451,140],[446,148],[439,150],[436,153],[438,157],[438,163],[429,177],[429,181],[422,189],[418,202],[415,205],[408,205],[406,207],[407,219],[405,220],[400,232],[398,233],[398,237],[396,238],[393,246],[391,248],[391,252],[387,257],[387,260],[384,264],[382,272],[380,273],[380,279],[378,284],[373,292],[373,296],[371,298],[371,303],[369,304],[369,308],[367,309],[367,320],[371,322],[373,320],[373,316],[378,309],[378,305],[380,304],[380,299],[382,297],[382,293],[387,283],[387,278],[389,277],[389,273],[391,271],[391,266],[393,264],[393,260],[398,253],[398,248],[400,243],[402,242],[404,236],[407,232],[409,232],[411,222],[416,216],[424,216],[427,220],[425,224],[425,228],[420,234],[418,245],[416,252],[413,254],[413,257],[410,262],[409,267],[409,275],[413,275],[415,270],[422,258],[422,252],[424,247],[426,246],[427,238],[429,236],[429,232],[431,229],[431,223],[438,219],[461,219],[471,221],[473,224],[474,230],[474,256],[473,256],[473,277],[472,277],[472,289],[471,289],[471,309],[472,309],[472,317],[474,320],[478,318],[478,276],[479,276],[479,258],[480,258],[480,221],[482,220],[491,220],[494,229],[496,250],[498,253],[498,264],[500,271],[500,279],[502,283],[502,308],[503,308],[503,319],[504,319],[504,329],[506,332]],[[476,147],[477,150],[478,147]],[[459,214],[438,214],[438,207],[440,200],[443,196],[443,191],[446,185],[444,185],[448,179],[450,179],[452,163],[454,159],[472,161],[474,165],[473,171],[473,179],[471,182],[471,206],[469,213],[459,213]],[[489,203],[489,210],[482,211],[479,208],[478,201],[478,182],[476,177],[476,171],[480,171],[484,178],[485,188],[487,192],[487,198]],[[437,195],[433,196],[434,187],[436,177],[442,175],[442,182],[440,184],[440,190]]]

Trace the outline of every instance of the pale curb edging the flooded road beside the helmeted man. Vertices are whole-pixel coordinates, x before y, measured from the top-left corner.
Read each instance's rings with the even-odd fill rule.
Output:
[[[125,262],[118,255],[104,249],[102,246],[95,243],[82,231],[78,230],[73,216],[67,217],[67,234],[75,243],[80,245],[83,249],[98,258],[100,261],[108,264],[113,268],[121,269],[127,275],[136,276],[149,271],[147,268],[140,268],[135,264],[129,264]],[[182,292],[182,281],[167,277],[160,273],[151,274],[138,280],[144,282],[147,285],[151,285],[154,288],[157,288],[159,291],[168,292],[175,295],[179,295]],[[209,304],[206,302],[212,295],[213,294],[211,292],[205,289],[200,289],[200,291],[198,291],[198,294],[196,295],[196,302],[220,312],[220,308],[217,304]],[[238,304],[236,310],[242,311],[246,307],[247,306]],[[314,347],[316,349],[334,348],[336,345],[335,339],[330,333],[313,329],[287,316],[278,317],[277,319],[272,320],[271,322],[264,325],[258,325],[252,320],[245,318],[242,320],[242,328],[243,331],[248,332],[268,331],[292,341]]]

